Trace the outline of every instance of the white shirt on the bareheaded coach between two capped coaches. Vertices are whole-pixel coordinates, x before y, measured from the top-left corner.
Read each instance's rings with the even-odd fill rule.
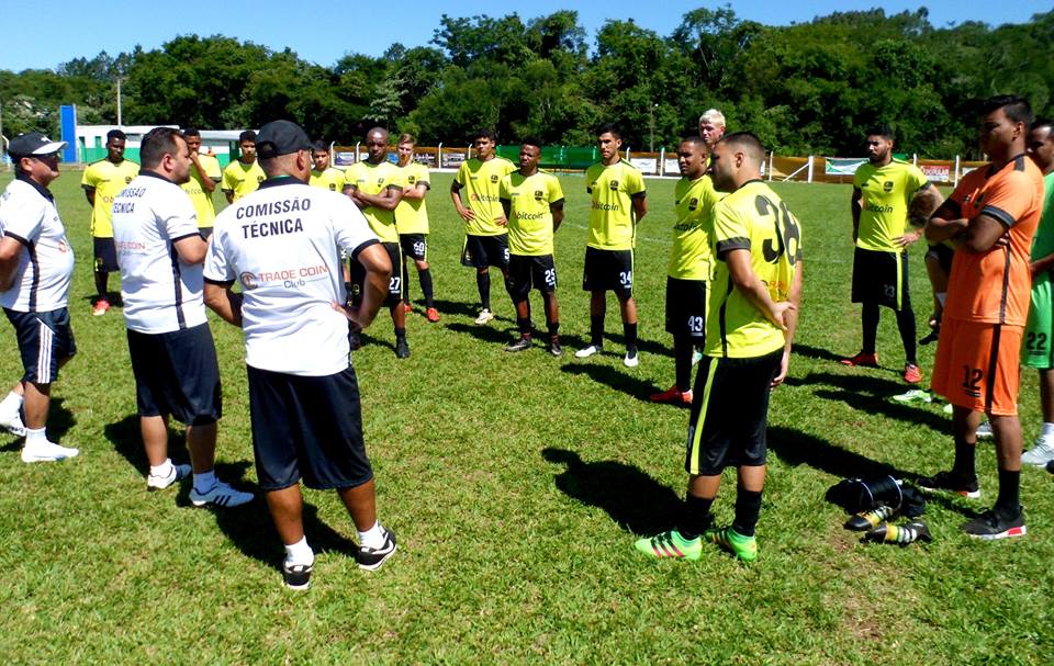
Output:
[[[130,330],[162,334],[205,323],[201,264],[172,242],[200,236],[194,204],[179,185],[144,171],[113,200],[113,244]]]

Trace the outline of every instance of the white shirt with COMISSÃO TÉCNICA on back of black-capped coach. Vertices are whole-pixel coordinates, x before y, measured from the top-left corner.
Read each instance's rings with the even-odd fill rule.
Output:
[[[216,216],[205,280],[242,285],[245,362],[327,376],[348,368],[348,319],[338,248],[378,242],[347,196],[293,178],[271,179]]]

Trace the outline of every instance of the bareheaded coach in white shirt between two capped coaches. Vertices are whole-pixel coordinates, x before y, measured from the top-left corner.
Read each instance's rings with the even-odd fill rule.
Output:
[[[148,490],[191,472],[168,458],[168,417],[187,426],[194,506],[234,507],[253,499],[216,478],[221,415],[220,369],[202,302],[201,263],[208,244],[194,206],[179,187],[190,178],[190,149],[179,132],[157,127],[143,137],[137,176],[113,201],[113,240],[128,328]]]

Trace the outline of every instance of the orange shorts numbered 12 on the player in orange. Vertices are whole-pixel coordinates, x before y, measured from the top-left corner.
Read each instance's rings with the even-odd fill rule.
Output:
[[[1016,415],[1023,331],[1023,326],[944,317],[933,364],[933,391],[958,407]]]

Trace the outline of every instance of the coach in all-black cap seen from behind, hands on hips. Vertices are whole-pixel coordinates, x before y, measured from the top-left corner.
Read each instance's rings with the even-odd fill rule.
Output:
[[[373,571],[395,552],[377,520],[362,441],[348,319],[365,328],[388,292],[388,252],[339,192],[311,188],[311,144],[294,123],[256,137],[267,180],[216,217],[205,260],[205,303],[245,330],[253,448],[260,487],[285,544],[285,585],[305,589],[314,553],[304,537],[300,479],[336,489],[359,532],[357,560]],[[362,302],[347,300],[339,250],[367,271]],[[235,282],[240,292],[232,291]]]

